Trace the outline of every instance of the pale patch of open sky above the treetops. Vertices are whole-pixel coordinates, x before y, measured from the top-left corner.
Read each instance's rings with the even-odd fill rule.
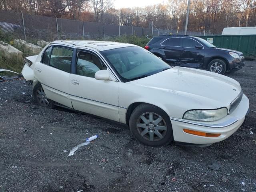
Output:
[[[155,5],[163,3],[166,0],[114,0],[114,8],[133,8],[133,7],[145,7],[148,5]]]

